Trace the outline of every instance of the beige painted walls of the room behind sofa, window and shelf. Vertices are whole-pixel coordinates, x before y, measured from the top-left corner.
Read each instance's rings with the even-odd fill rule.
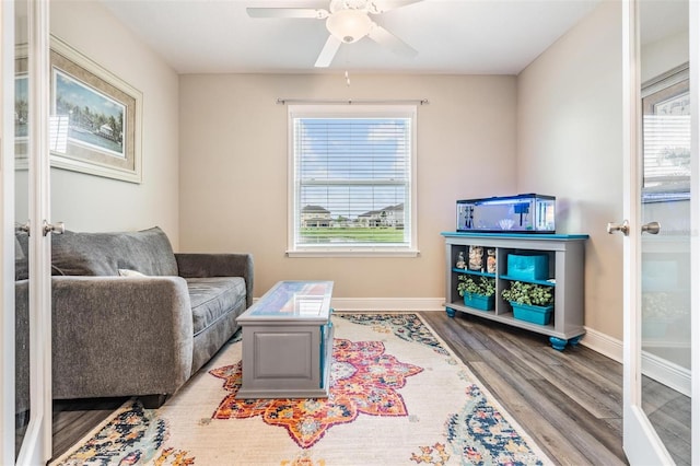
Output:
[[[180,251],[252,252],[256,296],[277,280],[328,278],[338,298],[441,299],[440,232],[454,230],[456,199],[553,194],[558,231],[592,236],[586,326],[621,338],[621,240],[605,233],[621,218],[619,24],[616,2],[602,2],[517,79],[351,73],[348,88],[340,71],[178,78],[100,3],[54,0],[51,32],[143,92],[144,180],[55,170],[52,217],[83,231],[159,224]],[[418,258],[285,257],[278,97],[430,101],[418,121]]]

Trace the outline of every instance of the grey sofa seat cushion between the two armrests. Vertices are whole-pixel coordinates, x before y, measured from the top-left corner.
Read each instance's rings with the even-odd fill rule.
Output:
[[[245,308],[245,280],[242,277],[186,278],[197,336],[228,314]]]

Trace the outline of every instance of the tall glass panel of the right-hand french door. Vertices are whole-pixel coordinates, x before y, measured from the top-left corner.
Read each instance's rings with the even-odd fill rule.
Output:
[[[653,441],[676,464],[690,464],[692,450],[688,26],[687,0],[639,1],[637,383]]]

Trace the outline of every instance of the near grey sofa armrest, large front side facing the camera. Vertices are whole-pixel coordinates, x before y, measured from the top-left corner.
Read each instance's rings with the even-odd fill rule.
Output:
[[[190,375],[180,277],[54,277],[55,398],[173,394]]]

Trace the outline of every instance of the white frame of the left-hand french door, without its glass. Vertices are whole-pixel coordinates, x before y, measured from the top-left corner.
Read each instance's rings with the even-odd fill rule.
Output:
[[[14,9],[2,2],[2,434],[0,462],[14,463]],[[31,415],[18,465],[44,465],[51,456],[51,280],[49,219],[49,2],[27,2],[30,72],[30,397]],[[8,77],[10,77],[8,79]],[[9,110],[8,110],[9,109]],[[5,352],[4,350],[8,349]],[[4,376],[8,378],[4,378]]]

